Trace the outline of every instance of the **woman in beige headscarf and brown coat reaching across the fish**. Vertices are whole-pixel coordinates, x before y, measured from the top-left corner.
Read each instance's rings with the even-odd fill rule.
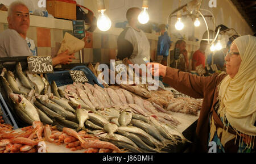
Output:
[[[225,57],[226,73],[199,77],[152,64],[177,91],[204,98],[193,152],[255,152],[256,37],[240,36]],[[158,65],[158,70],[155,65]]]

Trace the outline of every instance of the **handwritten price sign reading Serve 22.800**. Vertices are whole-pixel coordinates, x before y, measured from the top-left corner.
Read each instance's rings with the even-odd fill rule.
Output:
[[[29,56],[27,57],[28,72],[32,74],[52,73],[51,56]]]

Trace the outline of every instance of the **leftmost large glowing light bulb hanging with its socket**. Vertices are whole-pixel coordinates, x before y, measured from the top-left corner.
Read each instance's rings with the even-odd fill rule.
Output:
[[[97,20],[97,27],[101,31],[108,31],[112,23],[108,15],[104,13],[106,11],[104,0],[97,0],[97,6],[98,12],[100,12],[100,15],[98,16]]]

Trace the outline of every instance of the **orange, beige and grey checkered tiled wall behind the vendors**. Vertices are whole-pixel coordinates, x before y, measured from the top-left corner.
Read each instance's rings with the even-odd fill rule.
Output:
[[[0,23],[0,32],[6,30],[8,24]],[[71,30],[59,30],[53,28],[30,27],[27,37],[34,40],[37,54],[39,56],[51,54],[54,57],[60,48],[60,42],[63,39],[65,32],[71,34]],[[82,51],[84,62],[101,62],[109,64],[110,59],[115,59],[117,55],[117,35],[110,35],[96,32],[86,32],[84,38],[85,47]],[[155,60],[157,40],[150,41],[150,57]],[[79,53],[75,54],[76,60],[79,62]]]

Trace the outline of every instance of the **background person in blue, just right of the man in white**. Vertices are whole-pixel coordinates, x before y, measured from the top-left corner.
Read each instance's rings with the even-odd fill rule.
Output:
[[[166,31],[166,24],[160,24],[160,36],[158,37],[158,49],[157,49],[157,55],[163,56],[163,60],[161,61],[162,65],[167,66],[167,57],[169,55],[169,50],[171,47],[171,37],[168,36],[168,33]]]

